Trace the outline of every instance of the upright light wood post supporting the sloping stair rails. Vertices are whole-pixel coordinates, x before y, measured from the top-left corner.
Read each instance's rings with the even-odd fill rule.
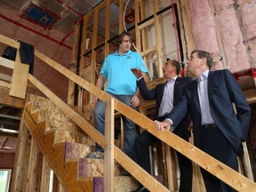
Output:
[[[104,153],[104,191],[114,192],[114,135],[115,135],[114,100],[106,101],[105,113],[105,153]]]

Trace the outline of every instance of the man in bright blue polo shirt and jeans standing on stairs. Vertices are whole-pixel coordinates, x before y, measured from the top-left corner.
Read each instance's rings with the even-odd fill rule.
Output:
[[[103,88],[108,79],[106,92],[117,100],[124,102],[127,106],[137,109],[140,105],[140,91],[136,84],[136,76],[132,74],[131,68],[140,68],[143,76],[148,73],[147,67],[138,52],[132,52],[132,36],[124,32],[117,38],[118,51],[109,54],[100,70],[96,86]],[[97,103],[94,110],[94,126],[105,134],[105,103],[98,100],[96,96],[93,102]],[[122,116],[124,122],[124,153],[136,161],[135,139],[137,137],[136,124],[130,119]],[[103,158],[104,149],[96,144],[95,152],[89,153],[88,158]]]

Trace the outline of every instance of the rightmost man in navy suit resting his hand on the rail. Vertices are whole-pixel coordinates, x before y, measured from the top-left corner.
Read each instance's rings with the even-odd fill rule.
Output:
[[[189,111],[196,147],[238,171],[237,156],[247,138],[251,109],[229,70],[210,71],[211,66],[211,53],[191,52],[188,70],[197,79],[185,89],[179,105],[164,122],[156,122],[156,129],[172,131],[174,127],[175,130]],[[207,192],[235,191],[210,172],[204,169],[201,172]]]

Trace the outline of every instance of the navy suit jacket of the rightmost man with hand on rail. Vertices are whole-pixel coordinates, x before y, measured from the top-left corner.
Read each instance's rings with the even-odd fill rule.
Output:
[[[189,110],[193,120],[195,145],[200,148],[202,118],[197,93],[197,82],[194,81],[189,84],[188,89],[184,93],[179,105],[172,109],[168,118],[172,119],[174,126],[177,126]],[[209,72],[208,96],[214,123],[225,135],[236,152],[239,153],[242,141],[247,138],[251,109],[235,77],[228,69]],[[237,114],[233,108],[233,103],[236,105]]]

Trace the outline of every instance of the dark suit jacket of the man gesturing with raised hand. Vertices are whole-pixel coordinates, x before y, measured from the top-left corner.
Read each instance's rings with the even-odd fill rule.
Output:
[[[181,94],[184,88],[192,82],[191,77],[177,77],[174,84],[174,92],[173,92],[173,107],[175,107],[179,101]],[[154,119],[156,120],[158,117],[159,108],[164,95],[164,84],[157,84],[155,89],[148,90],[147,84],[144,81],[144,78],[141,78],[137,81],[137,84],[140,89],[140,94],[144,100],[156,100],[156,113]],[[184,116],[185,117],[185,116]],[[175,130],[175,133],[179,135],[181,138],[188,140],[189,132],[188,132],[188,123],[189,116],[186,116],[182,124]]]

